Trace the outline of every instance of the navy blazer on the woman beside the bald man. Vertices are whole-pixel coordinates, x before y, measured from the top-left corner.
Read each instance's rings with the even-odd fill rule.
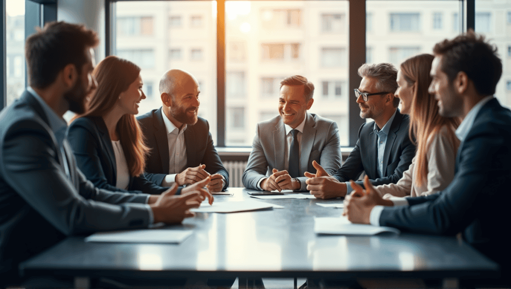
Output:
[[[161,194],[168,188],[148,181],[144,175],[130,175],[128,189],[116,187],[117,163],[112,140],[101,116],[84,116],[75,119],[67,128],[67,140],[75,153],[78,167],[96,187],[134,194]]]

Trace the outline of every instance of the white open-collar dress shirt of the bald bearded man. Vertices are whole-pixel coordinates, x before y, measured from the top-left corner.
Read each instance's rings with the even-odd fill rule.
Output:
[[[176,182],[177,174],[184,171],[187,167],[187,147],[184,143],[184,130],[187,125],[183,124],[182,128],[177,128],[163,113],[163,122],[167,129],[167,140],[169,143],[169,173],[161,182],[162,186],[171,186]]]

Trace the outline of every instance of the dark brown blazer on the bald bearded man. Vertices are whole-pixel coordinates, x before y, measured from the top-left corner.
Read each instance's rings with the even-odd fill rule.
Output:
[[[169,174],[169,141],[161,107],[138,116],[137,119],[146,137],[146,143],[151,148],[146,158],[146,178],[161,184],[165,176]],[[184,145],[187,148],[187,167],[205,164],[206,172],[224,177],[224,189],[229,185],[229,173],[215,150],[210,125],[204,118],[199,117],[195,125],[187,126],[184,131]]]

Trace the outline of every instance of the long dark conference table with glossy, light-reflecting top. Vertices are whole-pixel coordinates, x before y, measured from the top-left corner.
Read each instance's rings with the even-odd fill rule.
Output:
[[[251,198],[228,188],[215,202],[257,200],[281,205],[257,211],[196,213],[169,230],[193,230],[180,244],[88,243],[64,239],[20,264],[24,276],[73,276],[87,287],[98,276],[138,283],[173,278],[423,278],[454,284],[466,278],[499,278],[498,265],[455,236],[383,233],[374,236],[314,233],[314,218],[340,217],[342,200]],[[296,279],[295,279],[296,280]],[[296,283],[296,282],[295,282]],[[449,285],[448,285],[449,286]]]

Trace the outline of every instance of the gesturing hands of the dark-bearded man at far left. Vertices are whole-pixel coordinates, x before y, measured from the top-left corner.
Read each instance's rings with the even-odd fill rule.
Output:
[[[211,183],[211,176],[195,182],[181,190],[181,195],[176,196],[177,184],[173,184],[161,195],[149,197],[148,204],[153,212],[154,223],[166,224],[181,223],[184,218],[194,216],[191,208],[198,208],[206,198],[210,205],[213,204],[213,196],[206,188]]]

